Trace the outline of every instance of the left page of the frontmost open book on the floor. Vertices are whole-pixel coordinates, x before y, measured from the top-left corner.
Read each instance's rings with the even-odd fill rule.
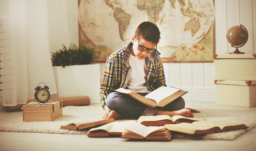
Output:
[[[145,138],[148,135],[148,132],[151,130],[151,128],[138,123],[130,123],[125,126],[125,130],[132,131]]]

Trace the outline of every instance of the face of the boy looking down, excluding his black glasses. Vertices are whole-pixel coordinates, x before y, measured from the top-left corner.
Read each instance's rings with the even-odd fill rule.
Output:
[[[150,54],[147,52],[147,50],[145,51],[138,50],[139,43],[140,43],[140,46],[143,46],[148,49],[154,49],[156,45],[142,38],[139,38],[139,40],[140,42],[138,42],[138,38],[135,40],[135,37],[132,36],[131,41],[133,43],[133,46],[131,48],[131,54],[136,56],[139,60],[143,60],[145,57],[148,57]]]

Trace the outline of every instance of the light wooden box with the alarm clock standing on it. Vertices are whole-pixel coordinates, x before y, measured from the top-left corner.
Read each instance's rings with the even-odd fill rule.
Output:
[[[22,106],[23,121],[54,121],[62,116],[62,101],[31,102]]]

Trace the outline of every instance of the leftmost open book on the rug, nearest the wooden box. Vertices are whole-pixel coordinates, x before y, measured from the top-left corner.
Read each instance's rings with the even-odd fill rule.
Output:
[[[74,121],[73,123],[67,125],[61,125],[61,129],[70,129],[70,130],[81,130],[85,128],[92,128],[95,126],[100,126],[103,124],[114,122],[113,118],[107,120],[99,120],[99,121]]]

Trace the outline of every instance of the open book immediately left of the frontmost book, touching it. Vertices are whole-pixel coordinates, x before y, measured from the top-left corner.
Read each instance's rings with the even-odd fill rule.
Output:
[[[125,123],[112,122],[97,128],[91,128],[88,137],[121,137],[124,131]]]

